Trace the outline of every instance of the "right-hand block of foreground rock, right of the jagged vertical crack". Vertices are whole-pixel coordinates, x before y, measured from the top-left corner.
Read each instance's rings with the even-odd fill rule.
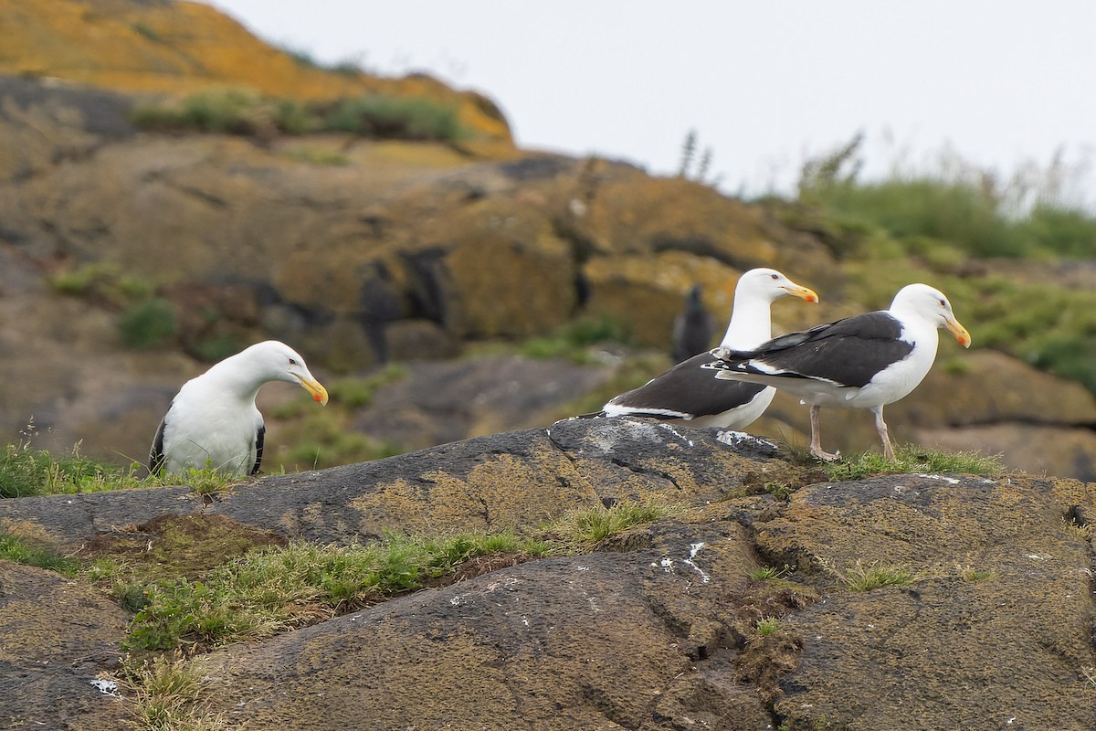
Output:
[[[1094,498],[1075,480],[939,475],[796,493],[758,544],[831,590],[788,617],[803,653],[776,712],[850,731],[1096,727]],[[843,585],[871,569],[914,580]]]

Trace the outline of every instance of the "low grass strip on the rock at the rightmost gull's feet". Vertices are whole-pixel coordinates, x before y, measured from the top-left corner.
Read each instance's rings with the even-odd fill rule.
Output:
[[[860,480],[876,475],[945,472],[996,477],[1005,471],[1004,465],[996,457],[986,457],[977,452],[941,452],[915,445],[898,446],[894,452],[893,460],[887,459],[882,453],[866,452],[826,462],[822,467],[833,482]]]

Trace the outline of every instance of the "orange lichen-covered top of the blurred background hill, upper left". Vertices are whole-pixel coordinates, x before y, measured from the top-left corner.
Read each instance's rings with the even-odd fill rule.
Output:
[[[415,75],[336,72],[302,62],[198,2],[0,0],[0,73],[53,77],[126,92],[186,94],[243,85],[278,98],[424,96],[459,110],[482,140],[513,140],[498,107]]]

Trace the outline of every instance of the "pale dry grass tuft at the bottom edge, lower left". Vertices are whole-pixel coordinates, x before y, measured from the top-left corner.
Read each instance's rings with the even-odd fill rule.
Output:
[[[201,661],[159,655],[123,660],[118,689],[140,731],[215,731],[227,728],[210,710],[209,679]]]

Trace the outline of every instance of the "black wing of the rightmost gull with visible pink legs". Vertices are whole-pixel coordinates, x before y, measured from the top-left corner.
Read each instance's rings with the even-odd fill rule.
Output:
[[[867,312],[774,338],[753,351],[722,353],[716,367],[863,387],[913,350],[901,334],[902,323],[890,312]]]

